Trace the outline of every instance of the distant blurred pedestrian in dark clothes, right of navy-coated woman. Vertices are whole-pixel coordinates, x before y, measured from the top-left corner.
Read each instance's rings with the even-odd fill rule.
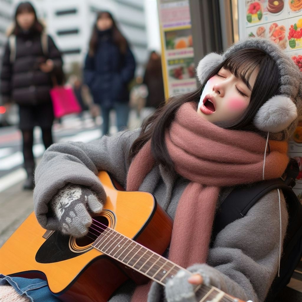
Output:
[[[151,51],[146,66],[143,83],[148,88],[146,106],[141,111],[141,120],[144,120],[165,100],[164,83],[162,79],[162,62],[160,54]]]

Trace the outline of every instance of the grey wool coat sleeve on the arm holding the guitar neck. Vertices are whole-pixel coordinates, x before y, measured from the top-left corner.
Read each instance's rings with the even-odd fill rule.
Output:
[[[288,225],[282,191],[281,253]],[[208,276],[222,291],[253,302],[263,302],[278,272],[280,214],[278,191],[263,196],[244,216],[217,234],[209,250],[207,264],[189,268]]]

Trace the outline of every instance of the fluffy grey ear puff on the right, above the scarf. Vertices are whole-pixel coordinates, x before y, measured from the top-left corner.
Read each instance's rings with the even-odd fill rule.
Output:
[[[297,107],[285,95],[275,95],[266,101],[254,117],[255,126],[264,132],[286,129],[297,118]]]

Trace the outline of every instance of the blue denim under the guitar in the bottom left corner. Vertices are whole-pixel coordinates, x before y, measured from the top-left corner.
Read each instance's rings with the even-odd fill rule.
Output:
[[[0,286],[8,284],[10,284],[18,294],[25,294],[31,302],[60,302],[60,300],[51,293],[47,286],[47,281],[42,279],[9,277],[0,274]]]

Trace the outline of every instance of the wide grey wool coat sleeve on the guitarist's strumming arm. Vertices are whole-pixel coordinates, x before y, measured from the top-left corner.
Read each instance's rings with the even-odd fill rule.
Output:
[[[119,132],[91,143],[51,145],[35,171],[34,210],[41,226],[51,229],[48,203],[67,183],[86,186],[100,197],[103,189],[97,175],[99,170],[106,170],[125,186],[129,150],[139,132]]]

